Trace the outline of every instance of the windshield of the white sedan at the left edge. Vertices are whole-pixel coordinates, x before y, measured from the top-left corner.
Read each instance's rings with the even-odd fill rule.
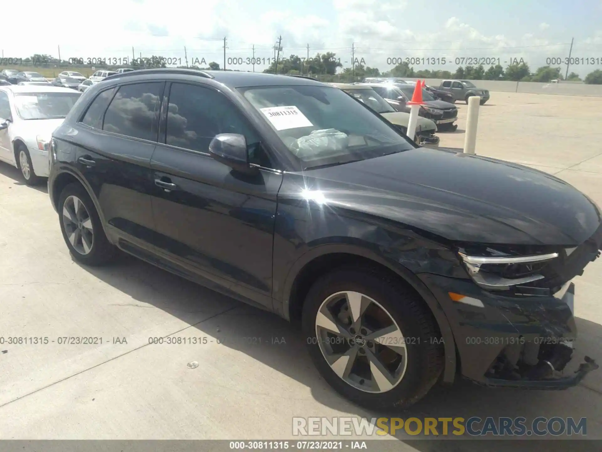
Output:
[[[67,116],[81,93],[15,93],[14,105],[22,119],[60,119]]]

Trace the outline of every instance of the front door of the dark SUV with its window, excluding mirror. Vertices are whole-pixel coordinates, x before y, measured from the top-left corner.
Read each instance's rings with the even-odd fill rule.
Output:
[[[169,102],[167,101],[169,95]],[[220,133],[247,139],[257,175],[209,155]],[[282,174],[240,108],[213,87],[168,83],[152,155],[152,207],[160,254],[202,283],[272,308],[272,246]]]

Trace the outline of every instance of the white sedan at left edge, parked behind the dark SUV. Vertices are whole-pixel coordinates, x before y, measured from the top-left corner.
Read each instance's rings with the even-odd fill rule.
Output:
[[[0,86],[0,160],[20,169],[26,184],[48,177],[52,132],[79,96],[55,86]]]

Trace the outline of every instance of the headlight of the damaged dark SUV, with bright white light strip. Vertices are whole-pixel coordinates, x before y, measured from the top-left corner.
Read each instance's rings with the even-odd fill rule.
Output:
[[[465,250],[458,253],[473,281],[488,290],[508,290],[512,286],[541,280],[545,278],[541,271],[550,260],[558,257],[558,253],[504,256],[495,250],[488,251],[492,256],[469,255]]]

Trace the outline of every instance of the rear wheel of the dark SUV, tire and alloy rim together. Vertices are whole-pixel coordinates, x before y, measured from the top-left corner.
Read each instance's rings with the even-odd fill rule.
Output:
[[[76,260],[99,266],[114,257],[116,248],[108,241],[94,202],[81,184],[64,187],[58,207],[63,239]]]

